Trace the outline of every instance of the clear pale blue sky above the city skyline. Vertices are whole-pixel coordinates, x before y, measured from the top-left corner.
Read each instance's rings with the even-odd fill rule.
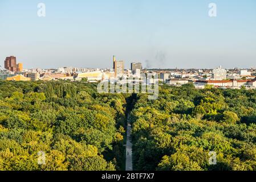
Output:
[[[110,68],[112,55],[127,68],[256,67],[256,1],[1,0],[0,65],[10,55],[25,68]]]

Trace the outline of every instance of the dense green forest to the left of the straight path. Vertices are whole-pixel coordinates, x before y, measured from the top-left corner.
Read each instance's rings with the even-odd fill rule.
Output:
[[[125,106],[94,84],[1,81],[0,170],[124,169]]]

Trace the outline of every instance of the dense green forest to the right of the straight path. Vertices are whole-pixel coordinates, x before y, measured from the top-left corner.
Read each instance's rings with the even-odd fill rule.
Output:
[[[256,90],[162,86],[134,101],[136,170],[256,170]]]

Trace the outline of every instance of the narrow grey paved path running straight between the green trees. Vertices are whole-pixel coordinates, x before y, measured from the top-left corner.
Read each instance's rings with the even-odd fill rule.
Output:
[[[132,127],[129,121],[129,117],[130,115],[128,114],[125,171],[132,171],[132,143],[130,140]]]

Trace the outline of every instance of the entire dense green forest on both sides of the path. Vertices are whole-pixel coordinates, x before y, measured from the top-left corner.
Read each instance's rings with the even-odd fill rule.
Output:
[[[256,90],[162,85],[148,100],[96,86],[0,81],[0,170],[124,170],[128,111],[135,170],[256,170]]]

